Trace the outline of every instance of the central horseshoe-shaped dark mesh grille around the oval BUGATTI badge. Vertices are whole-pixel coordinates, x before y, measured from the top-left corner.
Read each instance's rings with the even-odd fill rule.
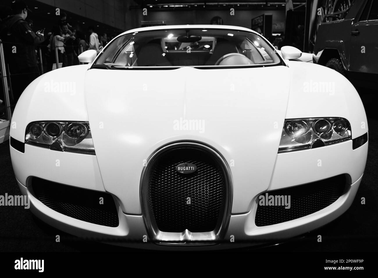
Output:
[[[197,171],[181,174],[175,169],[180,163],[192,163]],[[227,182],[208,151],[171,149],[154,160],[147,175],[147,205],[158,230],[209,232],[222,222]]]

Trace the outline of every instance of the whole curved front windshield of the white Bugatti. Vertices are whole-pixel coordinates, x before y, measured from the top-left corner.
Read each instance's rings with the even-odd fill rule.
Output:
[[[259,34],[226,29],[166,29],[129,33],[104,49],[94,66],[253,67],[278,65],[275,49]]]

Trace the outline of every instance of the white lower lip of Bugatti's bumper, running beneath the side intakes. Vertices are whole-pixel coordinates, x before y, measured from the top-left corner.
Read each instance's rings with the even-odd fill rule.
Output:
[[[305,217],[279,224],[257,227],[255,225],[256,203],[248,213],[231,215],[225,241],[223,244],[217,245],[217,248],[235,248],[259,245],[270,241],[280,241],[319,228],[339,217],[350,207],[356,196],[361,179],[362,176],[350,185],[349,190],[339,197],[336,202],[332,203],[332,205]],[[42,221],[62,231],[82,238],[90,238],[96,241],[128,247],[168,249],[177,247],[151,244],[148,240],[146,242],[147,231],[143,216],[125,214],[119,206],[118,227],[91,224],[65,216],[46,207],[31,194],[27,187],[23,186],[18,180],[17,183],[22,194],[30,196],[30,209],[32,213]],[[233,242],[230,241],[231,239],[233,239]],[[206,245],[205,248],[211,246]]]

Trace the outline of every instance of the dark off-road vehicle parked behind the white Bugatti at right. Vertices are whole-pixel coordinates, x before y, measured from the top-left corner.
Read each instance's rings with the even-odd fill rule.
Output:
[[[376,88],[378,0],[327,1],[327,7],[316,34],[314,63],[338,71],[355,85]]]

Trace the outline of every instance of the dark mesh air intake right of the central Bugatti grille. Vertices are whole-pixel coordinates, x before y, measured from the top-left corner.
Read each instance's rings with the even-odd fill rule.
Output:
[[[260,205],[257,199],[256,226],[267,226],[297,219],[322,210],[343,194],[346,186],[345,175],[338,175],[318,182],[290,188],[267,191],[260,196],[289,196],[290,208],[284,205]]]

